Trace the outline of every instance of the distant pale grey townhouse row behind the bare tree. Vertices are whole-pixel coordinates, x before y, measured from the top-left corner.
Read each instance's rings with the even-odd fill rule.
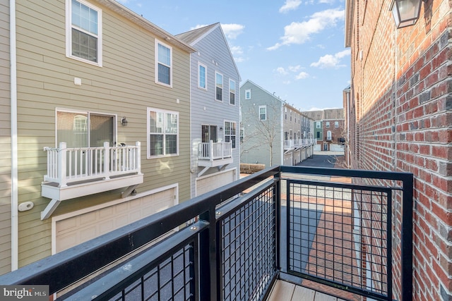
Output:
[[[314,120],[251,80],[240,87],[244,164],[297,165],[314,152]]]

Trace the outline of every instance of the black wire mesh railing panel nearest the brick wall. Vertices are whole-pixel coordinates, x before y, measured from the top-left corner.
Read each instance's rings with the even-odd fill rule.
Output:
[[[288,181],[287,195],[288,271],[391,296],[390,189]]]

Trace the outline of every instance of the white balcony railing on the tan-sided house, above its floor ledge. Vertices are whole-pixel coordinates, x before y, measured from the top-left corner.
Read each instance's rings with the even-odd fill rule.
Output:
[[[110,147],[66,148],[61,142],[59,147],[44,147],[47,152],[47,175],[44,181],[58,183],[66,187],[69,183],[129,173],[141,173],[140,142],[136,145]]]

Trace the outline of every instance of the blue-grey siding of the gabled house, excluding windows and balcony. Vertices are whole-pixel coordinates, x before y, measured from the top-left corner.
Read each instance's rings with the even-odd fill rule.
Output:
[[[198,53],[191,54],[191,170],[194,171],[191,174],[191,196],[194,197],[196,195],[196,178],[203,169],[198,167],[198,144],[202,141],[201,125],[217,125],[218,140],[225,141],[225,121],[236,123],[236,148],[232,149],[233,163],[225,168],[237,168],[237,175],[239,174],[240,75],[219,26],[192,46],[198,51]],[[198,63],[202,63],[207,68],[207,90],[198,88]],[[215,100],[215,71],[223,75],[222,102]],[[235,105],[230,104],[230,79],[235,81]],[[217,167],[209,168],[203,176],[213,173],[218,173]]]

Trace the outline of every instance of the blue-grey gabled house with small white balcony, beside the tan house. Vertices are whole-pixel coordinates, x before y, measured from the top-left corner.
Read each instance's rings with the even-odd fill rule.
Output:
[[[191,196],[239,176],[240,75],[220,23],[177,35],[191,54]]]

